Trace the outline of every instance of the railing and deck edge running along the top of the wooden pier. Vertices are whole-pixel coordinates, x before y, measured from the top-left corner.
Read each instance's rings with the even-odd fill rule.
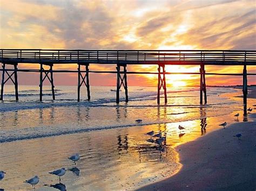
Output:
[[[55,63],[92,62],[116,63],[126,61],[127,64],[155,64],[156,62],[207,62],[207,63],[239,63],[246,61],[248,65],[256,62],[256,51],[190,51],[190,50],[66,50],[66,49],[0,49],[0,61],[54,61]]]

